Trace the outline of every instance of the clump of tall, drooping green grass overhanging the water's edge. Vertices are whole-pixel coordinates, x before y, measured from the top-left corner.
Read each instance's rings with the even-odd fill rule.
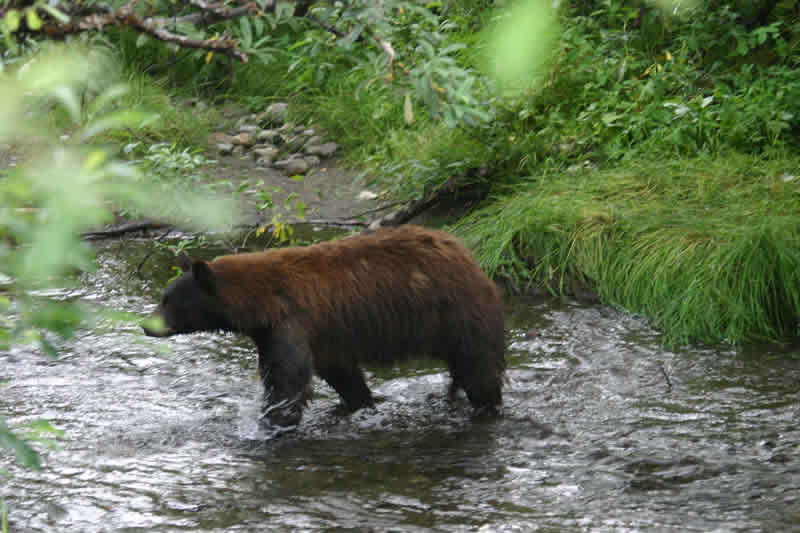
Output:
[[[800,161],[731,155],[543,176],[455,228],[494,275],[566,281],[676,342],[786,340],[800,316]]]

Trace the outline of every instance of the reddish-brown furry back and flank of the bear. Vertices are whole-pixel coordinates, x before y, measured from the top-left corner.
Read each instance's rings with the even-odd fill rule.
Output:
[[[209,266],[231,320],[242,329],[291,319],[325,342],[360,338],[368,352],[385,352],[394,343],[398,355],[406,348],[427,351],[445,330],[486,328],[483,334],[502,335],[497,287],[458,239],[438,230],[385,228],[223,256]],[[419,346],[404,346],[411,339]]]

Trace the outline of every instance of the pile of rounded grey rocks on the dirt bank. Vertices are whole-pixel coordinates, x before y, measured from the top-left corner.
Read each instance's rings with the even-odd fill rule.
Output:
[[[277,168],[287,175],[305,174],[333,157],[335,142],[325,142],[320,132],[286,122],[288,104],[278,102],[262,113],[240,118],[236,133],[212,133],[209,142],[220,155],[253,157],[259,166]]]

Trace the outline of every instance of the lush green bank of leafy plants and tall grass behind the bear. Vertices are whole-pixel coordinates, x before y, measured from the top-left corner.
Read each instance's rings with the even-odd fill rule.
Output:
[[[397,72],[368,47],[328,46],[319,28],[303,40],[286,30],[295,46],[225,71],[224,93],[205,89],[221,79],[213,62],[168,72],[212,106],[288,102],[383,206],[447,190],[474,213],[442,223],[512,290],[598,298],[678,343],[788,341],[800,316],[800,83],[794,14],[773,7],[562,3],[546,66],[512,95],[481,67],[484,30],[510,15],[460,2],[422,26],[418,14],[394,21]],[[420,27],[433,52],[419,53]],[[152,51],[122,45],[148,71]]]

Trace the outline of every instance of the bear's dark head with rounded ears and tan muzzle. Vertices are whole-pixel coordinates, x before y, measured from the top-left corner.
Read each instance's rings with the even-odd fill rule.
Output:
[[[197,331],[230,330],[217,296],[215,275],[208,263],[181,252],[183,274],[169,284],[156,310],[143,324],[150,337],[170,337]]]

